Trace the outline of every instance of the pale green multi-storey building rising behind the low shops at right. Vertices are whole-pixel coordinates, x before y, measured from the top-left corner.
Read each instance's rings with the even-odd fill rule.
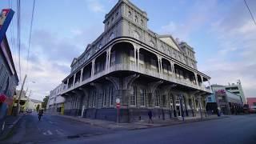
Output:
[[[228,91],[230,91],[231,93],[240,95],[241,98],[242,98],[242,103],[243,103],[243,104],[246,104],[246,103],[247,103],[247,102],[246,102],[245,94],[243,93],[243,90],[242,90],[242,84],[241,84],[241,81],[240,81],[240,80],[238,80],[237,84],[232,83],[232,84],[230,85],[230,83],[229,83],[228,86],[225,86],[225,89],[228,90]]]

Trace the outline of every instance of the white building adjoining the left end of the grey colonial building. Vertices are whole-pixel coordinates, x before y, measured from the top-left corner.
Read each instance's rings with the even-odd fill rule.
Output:
[[[61,95],[62,85],[57,86],[50,91],[49,99],[46,106],[47,113],[50,114],[64,114],[65,98]]]

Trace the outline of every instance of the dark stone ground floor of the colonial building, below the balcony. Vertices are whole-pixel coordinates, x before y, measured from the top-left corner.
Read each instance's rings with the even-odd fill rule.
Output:
[[[107,121],[206,117],[206,95],[202,90],[176,85],[139,74],[115,74],[99,78],[62,96],[64,114]],[[120,99],[119,111],[116,98]]]

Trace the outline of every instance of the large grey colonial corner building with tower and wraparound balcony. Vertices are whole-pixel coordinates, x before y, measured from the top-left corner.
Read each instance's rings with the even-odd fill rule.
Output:
[[[119,0],[105,16],[104,32],[71,64],[62,81],[64,113],[119,122],[200,116],[206,107],[205,82],[194,49],[147,27],[145,11]],[[210,85],[207,83],[207,85]]]

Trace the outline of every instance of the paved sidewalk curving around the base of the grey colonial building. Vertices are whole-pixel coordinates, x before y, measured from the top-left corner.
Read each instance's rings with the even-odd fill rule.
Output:
[[[54,114],[53,114],[54,115]],[[110,129],[110,130],[138,130],[138,129],[146,129],[152,127],[160,127],[160,126],[172,126],[187,122],[199,122],[199,121],[207,121],[211,119],[218,119],[218,118],[229,118],[228,116],[218,117],[217,115],[210,115],[206,118],[201,119],[200,117],[186,117],[184,122],[182,120],[176,119],[154,119],[154,123],[148,123],[146,120],[142,120],[139,122],[130,122],[130,123],[116,123],[110,121],[104,121],[99,119],[90,119],[90,118],[81,118],[81,117],[74,117],[74,116],[67,116],[67,115],[57,115],[63,118],[70,118],[79,122],[85,122],[91,126],[99,126],[102,128]]]

